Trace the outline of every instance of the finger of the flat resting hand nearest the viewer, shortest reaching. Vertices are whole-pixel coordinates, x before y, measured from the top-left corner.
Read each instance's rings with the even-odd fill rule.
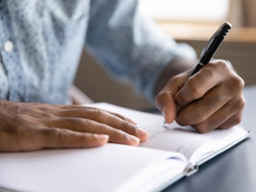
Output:
[[[108,142],[108,135],[80,133],[72,130],[45,127],[38,131],[40,145],[44,148],[96,147]]]

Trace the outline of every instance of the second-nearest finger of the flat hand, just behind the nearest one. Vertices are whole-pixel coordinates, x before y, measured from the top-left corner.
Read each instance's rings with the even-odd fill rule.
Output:
[[[94,134],[109,135],[109,141],[113,143],[139,145],[140,139],[115,129],[109,125],[91,120],[77,117],[62,117],[51,121],[52,125],[62,129],[70,129],[76,132],[87,132]]]

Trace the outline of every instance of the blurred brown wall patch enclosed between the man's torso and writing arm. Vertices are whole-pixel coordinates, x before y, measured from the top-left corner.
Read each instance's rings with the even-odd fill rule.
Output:
[[[129,84],[114,80],[86,51],[81,57],[75,85],[94,102],[109,102],[138,110],[153,106]]]

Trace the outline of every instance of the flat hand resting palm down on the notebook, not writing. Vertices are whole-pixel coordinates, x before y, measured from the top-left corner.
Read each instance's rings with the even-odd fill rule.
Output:
[[[120,114],[81,105],[0,100],[0,152],[139,145],[148,133]]]

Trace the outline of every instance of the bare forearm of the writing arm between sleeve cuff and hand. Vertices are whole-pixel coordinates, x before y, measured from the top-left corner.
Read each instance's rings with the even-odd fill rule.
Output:
[[[156,96],[165,86],[165,84],[175,75],[178,75],[196,65],[196,60],[185,58],[175,58],[165,67],[159,79],[155,83],[154,96]]]

